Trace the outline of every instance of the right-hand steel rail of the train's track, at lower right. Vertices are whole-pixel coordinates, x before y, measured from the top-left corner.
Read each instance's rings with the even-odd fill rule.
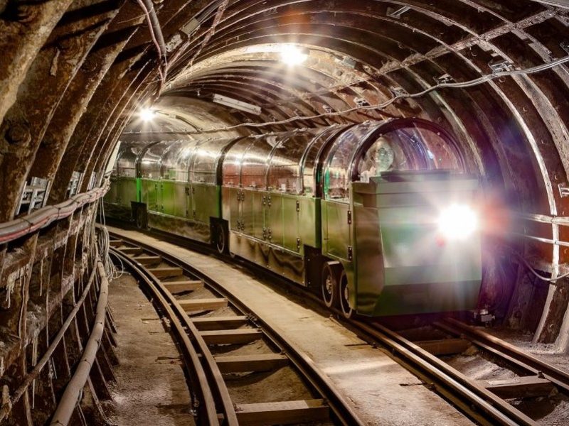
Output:
[[[528,354],[513,344],[504,342],[504,340],[498,337],[494,337],[491,334],[482,332],[482,330],[474,329],[467,324],[454,320],[454,318],[445,318],[445,322],[450,324],[450,326],[441,323],[435,323],[435,325],[454,334],[462,335],[495,356],[499,356],[501,359],[505,359],[531,373],[543,374],[543,377],[548,381],[555,383],[555,385],[563,389],[565,393],[569,393],[569,373],[567,371],[548,364],[546,361],[543,361],[543,359]]]

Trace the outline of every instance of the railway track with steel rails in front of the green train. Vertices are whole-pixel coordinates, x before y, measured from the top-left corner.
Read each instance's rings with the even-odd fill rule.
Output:
[[[126,241],[129,244],[139,244],[130,239]],[[179,244],[179,241],[174,241],[176,243]],[[151,248],[145,246],[144,250]],[[206,249],[208,252],[210,250]],[[174,256],[169,256],[169,261],[183,263]],[[254,265],[252,268],[257,270]],[[261,268],[259,272],[265,276],[270,274]],[[203,278],[206,277],[202,276]],[[321,303],[317,297],[311,298]],[[509,400],[546,396],[552,391],[569,395],[569,374],[566,371],[457,320],[446,318],[432,323],[432,329],[440,335],[433,338],[425,337],[422,333],[405,336],[404,332],[395,332],[377,322],[366,322],[358,318],[344,320],[341,312],[335,313],[339,320],[345,321],[347,327],[351,327],[368,342],[381,345],[399,364],[480,425],[537,425],[535,420]],[[493,359],[498,359],[501,365],[514,371],[515,378],[478,381],[445,361],[445,357],[459,354],[468,346],[476,346]]]

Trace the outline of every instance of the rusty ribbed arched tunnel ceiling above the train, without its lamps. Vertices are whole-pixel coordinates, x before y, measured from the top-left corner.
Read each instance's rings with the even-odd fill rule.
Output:
[[[153,31],[140,4],[154,5]],[[4,0],[0,12],[0,222],[31,177],[53,181],[50,202],[75,170],[102,180],[123,131],[236,136],[419,116],[457,136],[486,204],[515,211],[529,235],[500,239],[553,277],[569,263],[558,244],[569,241],[569,2]],[[280,58],[291,43],[307,54],[294,67]],[[149,105],[152,126],[136,116]],[[563,327],[545,327],[566,307],[555,291],[543,341]]]

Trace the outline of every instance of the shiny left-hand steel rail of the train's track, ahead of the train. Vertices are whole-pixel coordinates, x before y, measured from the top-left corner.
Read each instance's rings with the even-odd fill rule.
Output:
[[[481,422],[477,413],[484,413],[483,420],[485,421],[482,423],[488,425],[536,425],[530,417],[506,403],[505,400],[400,334],[377,323],[367,324],[359,320],[350,320],[349,323],[396,351],[405,358],[405,361],[425,371],[442,386],[448,386],[452,390],[453,399],[462,399],[463,403],[459,406],[464,407],[464,402],[467,402],[466,413],[474,420]]]

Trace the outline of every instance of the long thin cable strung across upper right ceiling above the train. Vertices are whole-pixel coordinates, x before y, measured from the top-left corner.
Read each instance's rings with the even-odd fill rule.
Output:
[[[349,108],[349,109],[344,109],[343,111],[326,112],[326,113],[322,113],[322,114],[315,114],[312,116],[294,116],[294,117],[290,117],[289,119],[280,120],[280,121],[270,121],[270,122],[265,122],[265,123],[240,123],[240,124],[235,124],[235,126],[227,126],[227,127],[223,127],[220,129],[206,129],[203,131],[187,131],[187,132],[184,132],[184,134],[215,133],[215,132],[220,132],[220,131],[229,131],[229,130],[233,130],[233,129],[240,129],[242,127],[275,126],[278,124],[292,123],[293,121],[314,120],[314,119],[321,119],[321,118],[326,118],[326,117],[342,116],[344,114],[349,114],[349,113],[355,112],[355,111],[385,109],[400,99],[413,99],[416,97],[422,97],[425,94],[433,92],[437,89],[473,87],[473,86],[477,86],[479,84],[483,84],[485,82],[488,82],[490,80],[495,80],[496,78],[500,78],[500,77],[509,77],[509,76],[516,76],[516,75],[530,75],[530,74],[534,74],[536,72],[549,70],[549,69],[551,69],[557,65],[563,65],[565,62],[569,62],[569,55],[564,56],[563,58],[560,58],[557,60],[553,60],[551,62],[547,62],[547,63],[542,64],[542,65],[536,65],[535,67],[524,68],[522,70],[493,72],[492,74],[483,75],[482,77],[478,77],[474,80],[469,80],[467,82],[454,82],[454,83],[448,82],[448,83],[435,84],[434,86],[427,87],[427,89],[424,89],[421,92],[398,94],[395,97],[388,99],[387,101],[385,101],[381,104],[358,106],[358,107],[353,107],[353,108]]]

